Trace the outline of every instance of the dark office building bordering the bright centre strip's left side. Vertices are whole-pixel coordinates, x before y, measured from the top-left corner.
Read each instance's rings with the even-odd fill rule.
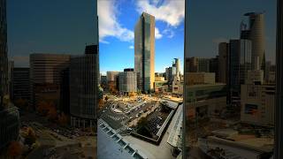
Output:
[[[70,113],[74,127],[94,127],[98,97],[98,50],[88,45],[85,54],[71,57]]]

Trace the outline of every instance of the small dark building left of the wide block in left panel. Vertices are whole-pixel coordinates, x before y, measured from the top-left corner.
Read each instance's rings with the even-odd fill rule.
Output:
[[[11,75],[11,99],[24,99],[29,102],[30,99],[30,83],[29,68],[14,67]]]

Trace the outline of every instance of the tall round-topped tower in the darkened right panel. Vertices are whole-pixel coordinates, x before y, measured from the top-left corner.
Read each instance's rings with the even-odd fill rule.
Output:
[[[256,69],[256,60],[259,57],[259,66],[264,70],[264,13],[248,12],[244,16],[249,17],[249,28],[241,23],[241,39],[249,39],[251,47],[251,68]]]

